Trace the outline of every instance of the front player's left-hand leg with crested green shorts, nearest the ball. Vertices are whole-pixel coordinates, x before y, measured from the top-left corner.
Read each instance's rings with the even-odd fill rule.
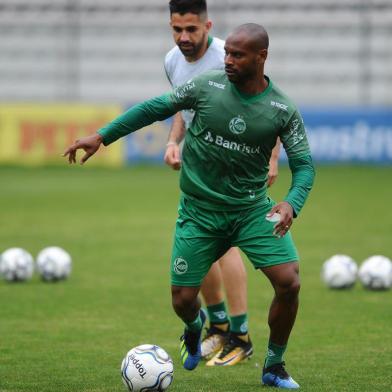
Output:
[[[176,222],[171,259],[172,304],[185,323],[181,337],[181,360],[193,370],[201,359],[201,332],[206,315],[200,310],[198,293],[212,263],[228,249],[224,238],[209,231],[212,214],[196,211],[183,199]],[[207,228],[206,228],[207,227]]]

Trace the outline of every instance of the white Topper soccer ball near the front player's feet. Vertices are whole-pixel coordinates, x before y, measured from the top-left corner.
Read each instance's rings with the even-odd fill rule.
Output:
[[[127,352],[121,375],[129,391],[166,391],[173,381],[173,361],[161,347],[143,344]]]

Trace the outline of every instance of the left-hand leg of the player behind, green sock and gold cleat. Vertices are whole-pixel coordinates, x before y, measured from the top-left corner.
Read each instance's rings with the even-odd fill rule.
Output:
[[[229,318],[224,302],[221,268],[218,262],[212,264],[204,278],[201,293],[210,322],[201,343],[201,355],[209,360],[223,347],[229,333]]]

